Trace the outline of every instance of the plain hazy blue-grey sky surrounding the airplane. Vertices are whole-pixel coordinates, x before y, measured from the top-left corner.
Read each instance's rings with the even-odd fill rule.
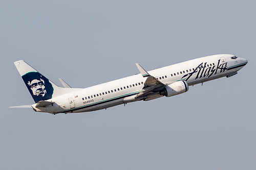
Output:
[[[255,169],[255,1],[2,1],[2,169]],[[13,62],[89,87],[213,54],[238,75],[172,98],[36,113]]]

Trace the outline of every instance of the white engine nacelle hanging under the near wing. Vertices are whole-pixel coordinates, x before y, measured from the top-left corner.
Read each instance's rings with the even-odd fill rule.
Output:
[[[177,94],[184,93],[188,90],[188,85],[186,81],[179,81],[168,86],[165,86],[163,90],[160,91],[160,95],[165,95],[166,97],[174,96]]]

